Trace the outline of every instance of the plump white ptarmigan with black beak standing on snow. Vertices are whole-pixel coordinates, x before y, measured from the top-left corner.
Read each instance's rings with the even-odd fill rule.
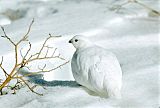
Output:
[[[76,82],[100,96],[120,98],[122,71],[116,56],[81,35],[69,43],[76,48],[71,62]]]

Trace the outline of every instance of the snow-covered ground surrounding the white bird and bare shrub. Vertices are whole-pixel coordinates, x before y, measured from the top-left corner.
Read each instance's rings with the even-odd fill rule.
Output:
[[[23,88],[16,95],[0,96],[0,108],[158,108],[159,105],[159,18],[136,4],[128,4],[119,13],[113,5],[125,0],[0,0],[0,25],[15,41],[23,36],[35,18],[29,39],[37,48],[48,33],[62,35],[50,42],[70,60],[75,49],[68,40],[76,34],[113,51],[122,66],[122,99],[111,100],[89,95],[72,77],[70,63],[36,83],[44,96]],[[141,0],[160,11],[158,0]],[[2,35],[2,31],[0,31]],[[27,47],[27,45],[23,45]],[[0,56],[5,68],[13,63],[13,47],[0,38]],[[8,61],[9,59],[9,61]],[[48,61],[54,66],[54,61]],[[1,75],[1,71],[0,71]],[[64,81],[67,80],[67,81]],[[48,86],[48,87],[47,87]]]

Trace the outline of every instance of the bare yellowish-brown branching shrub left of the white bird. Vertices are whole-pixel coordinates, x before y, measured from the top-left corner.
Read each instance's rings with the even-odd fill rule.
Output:
[[[29,88],[29,90],[32,91],[33,93],[36,93],[38,95],[42,95],[42,94],[37,93],[33,90],[37,85],[34,85],[34,86],[30,87],[29,82],[27,82],[23,78],[27,77],[27,76],[39,74],[39,73],[54,71],[54,70],[60,68],[61,66],[65,65],[69,62],[69,61],[67,61],[67,62],[65,62],[65,63],[63,63],[63,64],[61,64],[61,65],[59,65],[55,68],[51,68],[51,69],[48,69],[48,70],[46,69],[47,65],[44,64],[43,67],[38,67],[37,72],[29,73],[29,74],[23,75],[23,76],[20,75],[20,72],[19,72],[20,69],[23,68],[23,67],[28,67],[28,64],[33,62],[33,61],[48,60],[48,59],[53,59],[53,58],[58,58],[59,60],[65,60],[64,58],[60,57],[60,54],[58,56],[55,56],[55,52],[56,52],[57,48],[54,49],[54,52],[52,53],[52,55],[49,54],[50,50],[53,49],[53,47],[50,47],[49,45],[47,45],[48,40],[50,40],[51,38],[54,38],[54,37],[60,37],[60,36],[52,36],[51,34],[49,34],[49,37],[45,39],[45,41],[42,44],[42,47],[40,48],[40,50],[37,53],[30,55],[32,45],[28,40],[28,34],[31,31],[31,27],[32,27],[33,23],[34,23],[34,19],[30,23],[29,28],[27,30],[27,33],[17,43],[14,43],[11,40],[11,38],[6,35],[6,32],[5,32],[4,28],[1,27],[2,31],[4,33],[4,36],[2,36],[2,37],[8,39],[9,42],[14,46],[14,54],[15,54],[15,64],[14,64],[14,66],[11,69],[9,74],[7,73],[5,68],[2,66],[3,65],[3,57],[0,61],[0,69],[5,73],[5,76],[6,76],[6,79],[4,81],[0,82],[0,92],[1,92],[1,94],[3,94],[2,89],[5,88],[5,87],[13,90],[13,94],[15,94],[16,90],[18,90],[20,88],[19,84],[22,84],[22,85],[25,84]],[[28,41],[29,48],[27,49],[27,51],[23,55],[22,49],[19,50],[19,45],[24,41]],[[18,60],[19,59],[19,51],[20,51],[20,56],[22,57],[21,61]],[[44,53],[42,53],[42,52],[44,52]],[[44,54],[44,55],[42,55],[42,54]],[[9,85],[9,82],[12,79],[16,79],[17,82],[15,83],[14,86],[11,87]]]

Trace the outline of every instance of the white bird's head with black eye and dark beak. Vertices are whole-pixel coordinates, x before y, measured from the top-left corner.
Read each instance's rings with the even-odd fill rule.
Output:
[[[74,36],[71,40],[69,40],[69,43],[72,43],[76,49],[86,48],[91,46],[91,42],[87,39],[87,37],[83,35]]]

